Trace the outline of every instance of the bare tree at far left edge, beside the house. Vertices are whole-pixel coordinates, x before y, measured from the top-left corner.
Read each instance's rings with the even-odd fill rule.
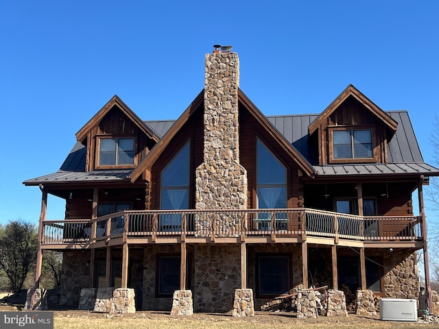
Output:
[[[14,293],[23,288],[27,273],[34,267],[38,248],[34,224],[10,221],[0,236],[0,269],[11,282]]]

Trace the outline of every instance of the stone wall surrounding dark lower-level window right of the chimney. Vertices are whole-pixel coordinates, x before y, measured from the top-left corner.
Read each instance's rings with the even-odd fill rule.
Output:
[[[291,255],[292,259],[292,287],[302,284],[302,248],[300,245],[247,245],[247,287],[253,289],[254,309],[261,310],[261,306],[269,302],[271,298],[258,296],[256,287],[256,257],[257,254],[281,254]]]

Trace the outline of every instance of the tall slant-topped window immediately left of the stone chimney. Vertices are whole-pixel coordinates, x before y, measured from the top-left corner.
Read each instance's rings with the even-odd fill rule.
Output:
[[[189,141],[161,172],[161,209],[189,208]],[[181,228],[181,216],[162,215],[161,230]]]

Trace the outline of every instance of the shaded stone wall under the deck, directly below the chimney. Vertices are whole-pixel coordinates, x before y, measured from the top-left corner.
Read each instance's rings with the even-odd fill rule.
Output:
[[[239,245],[195,245],[193,308],[195,312],[228,312],[241,288]]]

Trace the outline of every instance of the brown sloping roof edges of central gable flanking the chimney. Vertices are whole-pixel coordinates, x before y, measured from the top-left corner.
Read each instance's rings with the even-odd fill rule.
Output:
[[[276,128],[268,121],[267,117],[265,117],[262,112],[250,101],[250,99],[244,94],[241,89],[238,89],[238,101],[240,101],[246,109],[253,115],[255,119],[270,133],[270,135],[278,141],[278,143],[287,151],[287,154],[296,160],[297,164],[300,168],[307,173],[309,176],[314,175],[314,169],[312,165],[308,162],[308,160],[300,154],[299,151],[283,137],[283,135],[276,130]],[[132,182],[137,180],[139,176],[143,173],[143,171],[150,171],[152,164],[157,160],[158,156],[163,152],[163,150],[170,143],[175,134],[181,129],[181,127],[187,122],[191,114],[195,112],[202,104],[204,103],[204,90],[198,94],[197,97],[193,100],[193,102],[189,105],[189,107],[182,113],[180,118],[175,121],[174,125],[170,127],[170,129],[166,132],[163,138],[152,148],[150,153],[142,160],[142,162],[135,168],[131,175],[130,179]]]

